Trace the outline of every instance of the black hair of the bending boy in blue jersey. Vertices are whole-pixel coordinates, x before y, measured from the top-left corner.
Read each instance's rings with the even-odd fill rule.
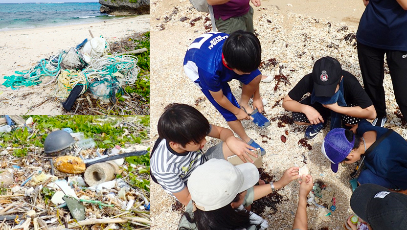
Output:
[[[260,66],[261,45],[253,33],[243,30],[231,33],[222,47],[222,52],[227,66],[231,69],[249,73]]]

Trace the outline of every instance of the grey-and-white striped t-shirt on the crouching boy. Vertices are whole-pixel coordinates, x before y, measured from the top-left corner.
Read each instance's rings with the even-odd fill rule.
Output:
[[[177,153],[166,139],[158,138],[150,159],[150,171],[164,190],[171,194],[186,187],[192,171],[204,163],[202,151]]]

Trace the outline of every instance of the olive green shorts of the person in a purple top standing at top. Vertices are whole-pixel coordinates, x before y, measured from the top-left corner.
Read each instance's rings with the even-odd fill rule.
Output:
[[[219,32],[231,34],[232,32],[242,29],[254,33],[253,28],[253,8],[247,14],[240,17],[229,18],[223,21],[221,18],[215,19],[216,28]]]

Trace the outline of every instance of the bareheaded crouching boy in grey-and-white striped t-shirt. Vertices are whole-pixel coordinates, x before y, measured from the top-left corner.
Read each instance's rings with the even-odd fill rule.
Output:
[[[243,161],[253,162],[248,154],[257,157],[249,144],[235,138],[229,129],[209,124],[197,109],[189,105],[170,104],[158,120],[158,135],[150,156],[152,179],[163,189],[187,205],[191,199],[187,181],[192,171],[208,159],[226,159],[236,154]],[[205,137],[223,142],[204,154]]]

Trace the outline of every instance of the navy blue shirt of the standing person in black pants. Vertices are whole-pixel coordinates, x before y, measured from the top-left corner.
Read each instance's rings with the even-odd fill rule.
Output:
[[[396,0],[369,0],[356,38],[366,46],[407,51],[407,10]]]

